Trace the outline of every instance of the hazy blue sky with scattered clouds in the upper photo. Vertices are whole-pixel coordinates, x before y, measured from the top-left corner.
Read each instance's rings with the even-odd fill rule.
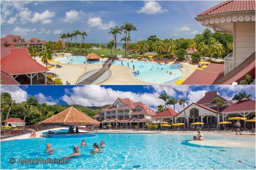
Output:
[[[132,42],[194,38],[203,27],[195,17],[222,1],[1,1],[1,38],[20,35],[56,41],[62,33],[87,32],[86,43],[108,43],[116,25],[132,23]],[[124,35],[118,35],[119,41]],[[78,41],[80,41],[80,37]],[[74,40],[73,40],[74,42]]]

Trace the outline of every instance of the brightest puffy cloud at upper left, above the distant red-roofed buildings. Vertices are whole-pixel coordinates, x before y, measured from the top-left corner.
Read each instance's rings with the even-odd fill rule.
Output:
[[[32,23],[41,22],[41,24],[48,24],[51,23],[53,18],[55,16],[54,12],[50,12],[48,10],[44,11],[43,13],[37,13],[35,12],[33,18],[31,19]]]

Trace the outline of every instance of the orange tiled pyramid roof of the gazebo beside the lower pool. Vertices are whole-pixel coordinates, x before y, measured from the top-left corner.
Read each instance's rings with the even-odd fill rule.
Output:
[[[87,116],[81,111],[75,109],[72,105],[65,111],[62,111],[50,118],[44,120],[43,125],[99,125],[97,120]]]

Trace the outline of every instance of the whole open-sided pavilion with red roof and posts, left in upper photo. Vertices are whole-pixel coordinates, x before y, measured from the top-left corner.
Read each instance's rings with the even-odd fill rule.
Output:
[[[1,48],[1,84],[47,84],[47,71],[27,48]]]

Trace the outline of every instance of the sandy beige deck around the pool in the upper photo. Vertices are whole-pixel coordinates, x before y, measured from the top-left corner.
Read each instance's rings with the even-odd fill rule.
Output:
[[[70,53],[65,53],[64,56],[71,56]],[[62,57],[61,55],[57,55],[53,57],[53,60],[55,58]],[[107,58],[100,58],[100,61],[106,61]],[[123,61],[132,61],[131,59],[122,58]],[[43,64],[41,62],[41,58],[36,57],[36,61],[39,64]],[[133,60],[136,61],[136,60]],[[54,62],[50,64],[56,64]],[[168,65],[173,64],[173,62],[169,63]],[[187,79],[191,73],[193,73],[195,70],[194,68],[197,67],[197,65],[189,64],[189,63],[182,63],[183,68],[181,69],[183,71],[181,79]],[[61,64],[58,63],[58,65],[61,65],[61,68],[52,67],[49,69],[49,72],[53,72],[58,75],[58,78],[61,79],[63,84],[65,84],[66,81],[68,81],[70,84],[76,84],[76,81],[83,75],[85,72],[90,72],[95,69],[102,68],[102,64]],[[154,83],[148,83],[143,82],[137,78],[135,78],[131,72],[133,69],[128,68],[126,66],[119,66],[119,65],[111,65],[110,66],[111,76],[106,81],[103,81],[99,84],[101,85],[149,85]],[[170,83],[170,84],[175,84]]]

